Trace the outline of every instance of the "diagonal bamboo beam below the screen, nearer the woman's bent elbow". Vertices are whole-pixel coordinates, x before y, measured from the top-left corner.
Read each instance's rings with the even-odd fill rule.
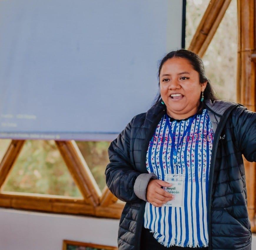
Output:
[[[55,141],[85,202],[99,205],[101,191],[74,141]]]

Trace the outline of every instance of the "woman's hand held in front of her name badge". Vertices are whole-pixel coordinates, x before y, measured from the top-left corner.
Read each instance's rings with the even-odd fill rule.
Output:
[[[174,195],[164,191],[161,187],[171,187],[172,184],[152,179],[147,185],[146,198],[149,203],[155,207],[161,207],[163,204],[167,203],[169,200],[173,200]]]

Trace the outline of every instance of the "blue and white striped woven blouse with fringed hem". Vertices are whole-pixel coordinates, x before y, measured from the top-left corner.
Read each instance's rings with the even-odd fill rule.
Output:
[[[177,164],[166,118],[176,149],[179,144]],[[190,130],[184,135],[191,120]],[[164,246],[208,246],[207,194],[213,136],[207,109],[184,120],[163,115],[157,125],[147,150],[148,172],[154,172],[160,180],[164,180],[165,174],[185,175],[184,207],[158,208],[146,203],[144,227]]]

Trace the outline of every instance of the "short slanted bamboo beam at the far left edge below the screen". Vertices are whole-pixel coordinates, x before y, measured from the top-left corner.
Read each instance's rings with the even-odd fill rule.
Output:
[[[0,189],[3,188],[11,169],[21,152],[24,140],[12,140],[0,163]]]

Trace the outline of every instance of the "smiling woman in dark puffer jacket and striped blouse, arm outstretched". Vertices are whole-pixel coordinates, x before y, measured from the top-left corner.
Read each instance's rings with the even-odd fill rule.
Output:
[[[158,101],[109,146],[119,249],[251,249],[242,154],[256,161],[256,113],[217,100],[191,51],[168,53],[158,76]],[[184,177],[182,196],[167,174]]]

